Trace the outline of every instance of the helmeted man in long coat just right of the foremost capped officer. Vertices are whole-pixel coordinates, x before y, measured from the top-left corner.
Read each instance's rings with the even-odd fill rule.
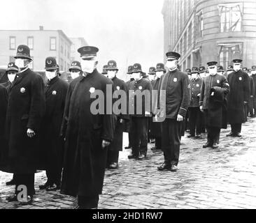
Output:
[[[127,85],[124,81],[122,81],[122,79],[116,77],[116,75],[118,74],[117,63],[113,60],[108,61],[108,67],[106,68],[106,70],[108,73],[108,78],[110,78],[113,82],[113,88],[115,93],[118,93],[118,91],[122,90],[125,91],[126,95],[128,96]],[[127,121],[129,121],[128,109],[125,114],[122,114],[122,111],[120,114],[116,114],[114,139],[108,146],[108,160],[106,166],[108,169],[118,169],[119,151],[122,151],[122,132],[124,130],[124,124]]]

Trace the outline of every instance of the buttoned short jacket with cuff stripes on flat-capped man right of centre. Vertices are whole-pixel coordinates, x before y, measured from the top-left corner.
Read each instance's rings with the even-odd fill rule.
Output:
[[[166,91],[165,100],[163,91]],[[178,114],[185,117],[189,105],[190,82],[187,74],[180,70],[173,70],[164,74],[159,84],[160,118],[165,116],[165,118],[176,119]]]

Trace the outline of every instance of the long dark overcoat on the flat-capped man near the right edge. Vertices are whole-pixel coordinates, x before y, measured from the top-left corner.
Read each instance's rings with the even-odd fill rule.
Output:
[[[227,96],[227,114],[229,123],[243,123],[246,121],[244,102],[250,100],[250,82],[246,72],[239,70],[227,77],[230,93]]]

